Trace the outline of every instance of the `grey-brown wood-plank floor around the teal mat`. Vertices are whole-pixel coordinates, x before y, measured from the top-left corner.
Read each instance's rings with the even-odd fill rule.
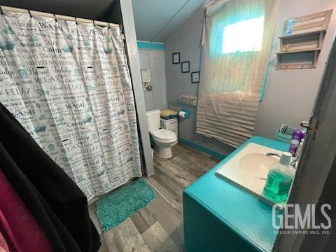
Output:
[[[183,251],[182,192],[219,161],[177,144],[169,160],[154,155],[155,174],[146,181],[157,197],[116,228],[102,233],[90,204],[90,216],[101,236],[99,252]]]

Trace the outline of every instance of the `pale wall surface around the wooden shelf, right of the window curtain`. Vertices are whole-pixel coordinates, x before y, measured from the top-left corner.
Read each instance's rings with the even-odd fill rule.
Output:
[[[264,100],[259,105],[254,134],[273,138],[274,131],[281,124],[299,127],[302,120],[309,120],[325,62],[328,60],[330,46],[335,38],[336,9],[332,13],[316,69],[275,70],[274,52],[279,50],[277,37],[283,31],[285,20],[329,10],[335,6],[335,0],[281,1],[274,35],[272,62],[269,66]]]

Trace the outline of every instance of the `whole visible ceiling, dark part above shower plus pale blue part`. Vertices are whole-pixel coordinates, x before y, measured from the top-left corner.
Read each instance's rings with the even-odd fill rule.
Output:
[[[113,22],[110,16],[113,8],[116,8],[113,1],[0,0],[0,5]],[[205,2],[206,0],[132,0],[137,39],[167,41]]]

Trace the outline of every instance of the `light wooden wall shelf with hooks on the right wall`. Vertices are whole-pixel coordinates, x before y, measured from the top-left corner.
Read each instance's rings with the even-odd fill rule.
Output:
[[[286,22],[286,35],[279,36],[276,69],[315,68],[332,10],[305,15]]]

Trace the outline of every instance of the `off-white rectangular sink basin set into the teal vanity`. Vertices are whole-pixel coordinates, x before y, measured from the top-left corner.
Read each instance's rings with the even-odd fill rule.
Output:
[[[282,152],[260,144],[247,144],[245,148],[219,168],[216,174],[248,190],[261,200],[274,204],[262,195],[262,190],[267,179],[269,165],[278,162],[279,157],[275,155],[267,156],[267,153],[281,155]]]

